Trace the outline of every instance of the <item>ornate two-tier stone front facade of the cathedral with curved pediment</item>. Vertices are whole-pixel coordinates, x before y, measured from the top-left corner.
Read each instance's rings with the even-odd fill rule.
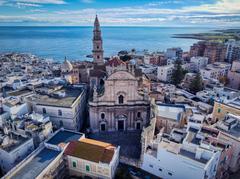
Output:
[[[104,81],[104,89],[89,102],[93,132],[140,130],[149,120],[147,90],[140,94],[134,69],[113,72]]]

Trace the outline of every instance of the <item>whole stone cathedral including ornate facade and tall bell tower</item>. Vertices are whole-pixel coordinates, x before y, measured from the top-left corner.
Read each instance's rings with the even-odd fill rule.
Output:
[[[90,128],[92,132],[141,130],[149,122],[150,110],[142,73],[118,57],[104,63],[97,16],[93,32],[93,59],[99,66],[104,64],[106,72],[101,90],[93,83],[93,97],[89,101]]]

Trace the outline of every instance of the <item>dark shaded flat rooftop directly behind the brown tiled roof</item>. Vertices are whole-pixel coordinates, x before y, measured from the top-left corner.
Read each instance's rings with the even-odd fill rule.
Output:
[[[59,130],[52,138],[46,143],[52,145],[59,145],[60,143],[68,143],[70,141],[78,141],[83,134],[68,130]]]

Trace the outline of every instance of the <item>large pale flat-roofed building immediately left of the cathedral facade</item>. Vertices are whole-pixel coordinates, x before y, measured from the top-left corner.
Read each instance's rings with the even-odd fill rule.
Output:
[[[84,86],[63,87],[47,94],[39,92],[26,100],[36,113],[49,115],[57,128],[64,127],[77,131],[81,129],[86,106]]]

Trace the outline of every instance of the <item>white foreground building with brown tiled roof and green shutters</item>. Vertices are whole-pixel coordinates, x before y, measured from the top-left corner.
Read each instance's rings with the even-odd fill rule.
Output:
[[[120,147],[92,139],[72,141],[64,155],[71,176],[114,178],[119,163]]]

